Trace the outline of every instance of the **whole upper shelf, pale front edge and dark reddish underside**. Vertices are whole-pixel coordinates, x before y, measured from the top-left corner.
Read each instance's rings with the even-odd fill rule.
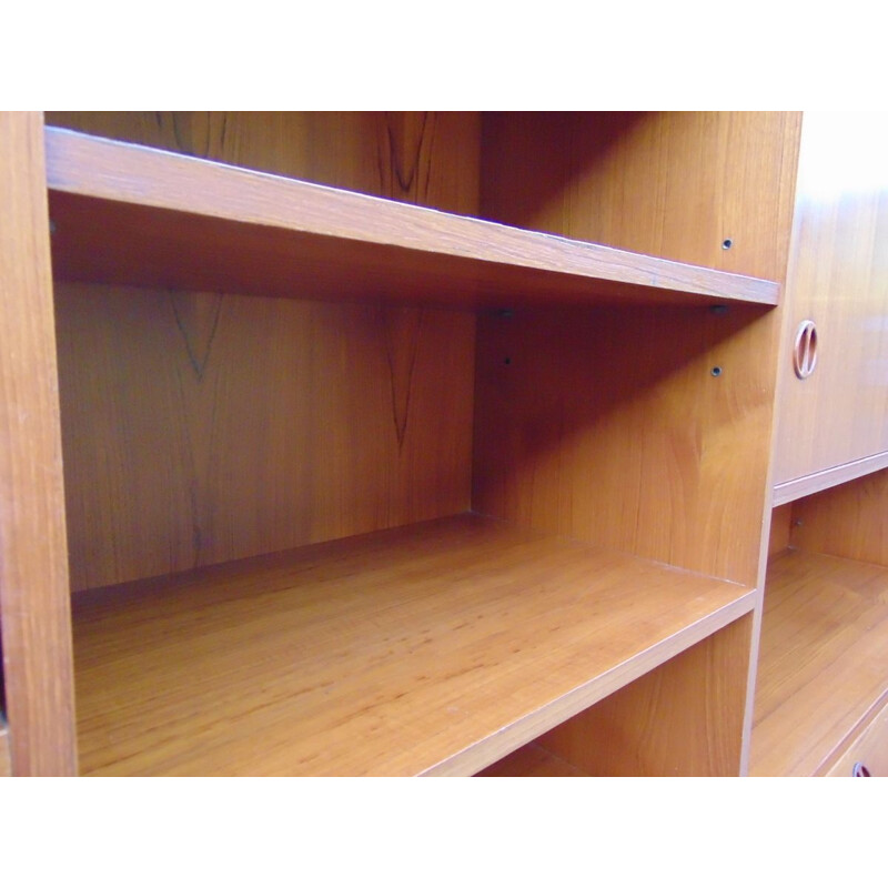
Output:
[[[744,302],[771,281],[46,128],[65,280],[451,307]]]

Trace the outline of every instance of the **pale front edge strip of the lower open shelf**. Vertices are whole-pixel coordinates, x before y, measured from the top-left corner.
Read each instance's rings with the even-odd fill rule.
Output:
[[[756,592],[750,589],[735,602],[652,645],[615,668],[595,676],[549,705],[504,727],[494,736],[462,750],[420,776],[445,777],[477,773],[748,614],[755,607],[755,602]]]

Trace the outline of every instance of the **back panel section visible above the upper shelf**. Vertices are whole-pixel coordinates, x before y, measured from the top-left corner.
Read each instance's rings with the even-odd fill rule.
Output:
[[[47,122],[292,179],[477,215],[481,114],[68,111]]]

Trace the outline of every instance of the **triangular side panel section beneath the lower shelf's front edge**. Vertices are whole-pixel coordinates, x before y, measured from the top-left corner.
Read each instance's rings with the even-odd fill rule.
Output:
[[[589,776],[738,776],[751,620],[731,623],[538,744]]]

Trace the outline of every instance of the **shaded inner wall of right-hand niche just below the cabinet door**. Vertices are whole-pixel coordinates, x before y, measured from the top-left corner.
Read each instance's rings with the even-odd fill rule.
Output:
[[[888,470],[799,500],[793,545],[888,566]]]

